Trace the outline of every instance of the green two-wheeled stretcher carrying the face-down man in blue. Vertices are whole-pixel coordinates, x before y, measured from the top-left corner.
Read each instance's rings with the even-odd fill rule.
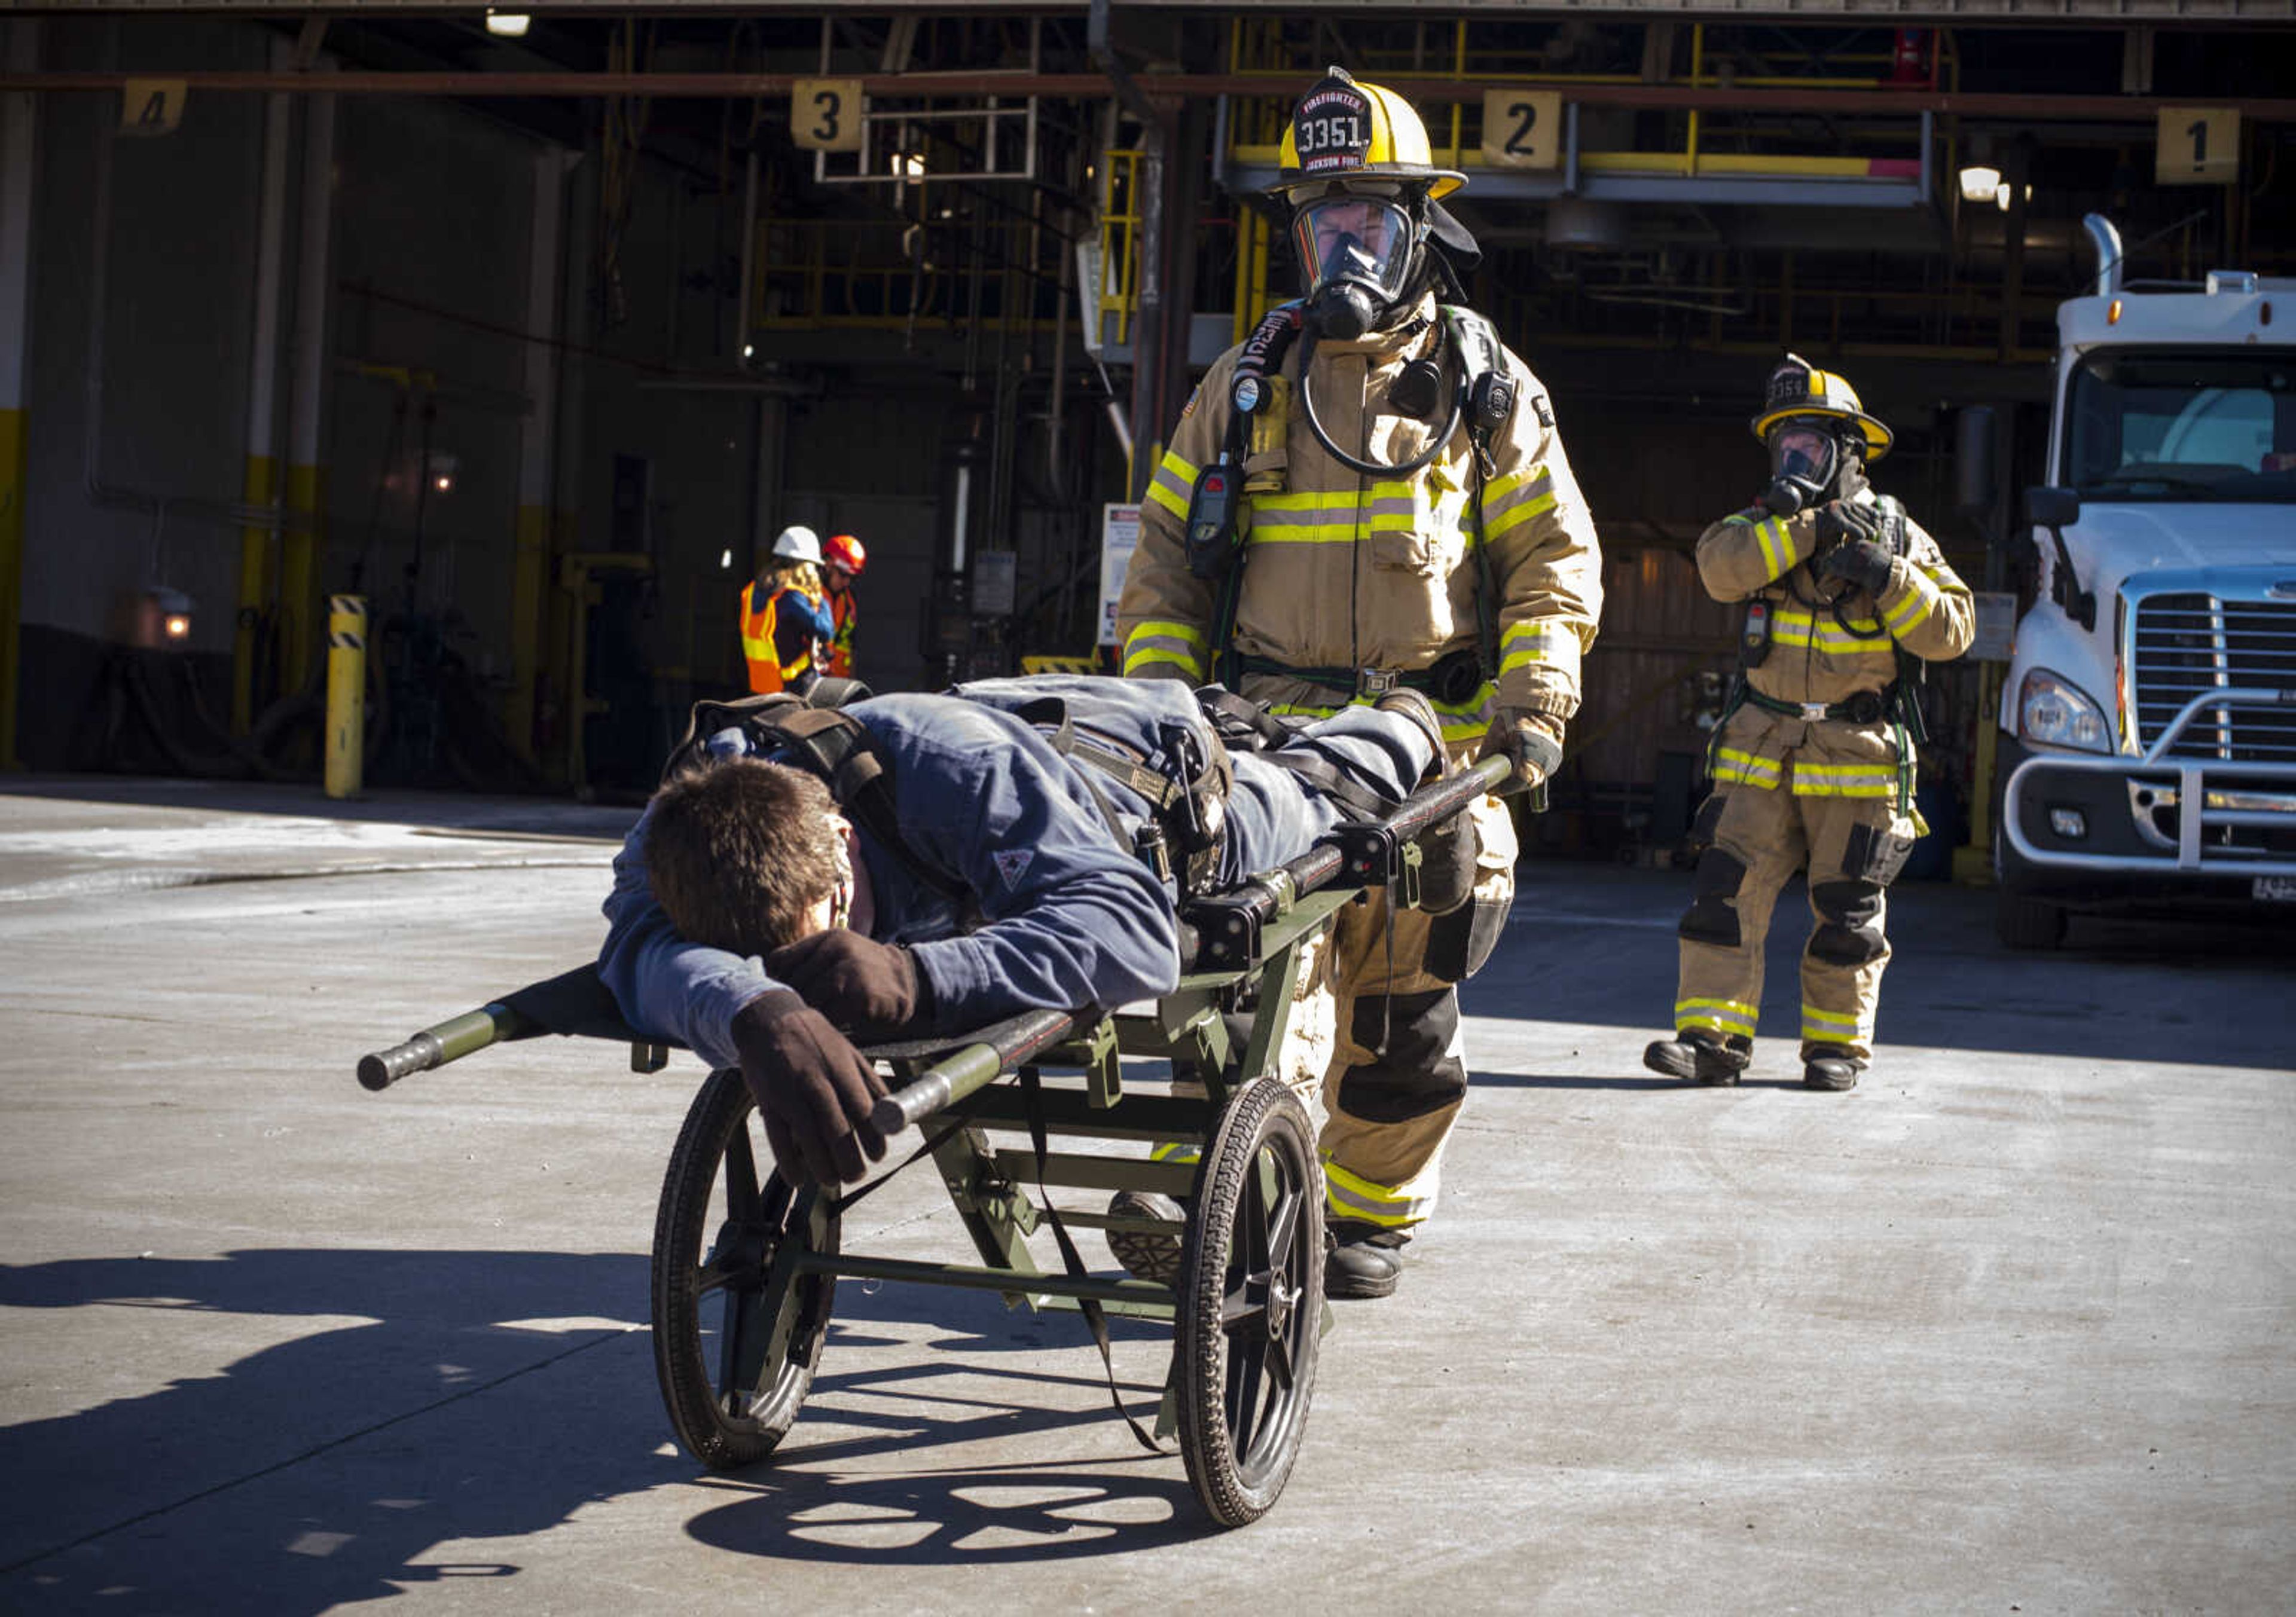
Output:
[[[687,1109],[654,1217],[654,1369],[680,1442],[716,1470],[774,1452],[822,1362],[838,1279],[964,1286],[1013,1307],[1081,1309],[1102,1353],[1107,1314],[1171,1321],[1155,1436],[1178,1438],[1215,1521],[1240,1527],[1263,1516],[1300,1454],[1327,1323],[1316,1128],[1277,1066],[1306,951],[1368,887],[1394,884],[1396,903],[1414,903],[1414,838],[1504,779],[1506,760],[1483,760],[1380,822],[1329,831],[1288,866],[1182,903],[1189,969],[1153,1006],[1031,1011],[962,1038],[868,1047],[891,1086],[877,1125],[895,1151],[912,1144],[909,1130],[921,1144],[866,1185],[783,1181],[742,1073],[712,1073]],[[638,1073],[668,1063],[666,1045],[622,1020],[595,967],[579,967],[363,1057],[358,1082],[381,1091],[540,1034],[622,1040]],[[1185,1082],[1127,1093],[1120,1057],[1169,1059]],[[1201,1155],[1107,1155],[1072,1142],[1178,1142]],[[843,1210],[925,1158],[980,1261],[845,1252]],[[1054,1187],[1159,1192],[1185,1213],[1056,1210]],[[1045,1270],[1029,1247],[1042,1224],[1063,1272]],[[1176,1284],[1084,1272],[1075,1227],[1176,1236]]]

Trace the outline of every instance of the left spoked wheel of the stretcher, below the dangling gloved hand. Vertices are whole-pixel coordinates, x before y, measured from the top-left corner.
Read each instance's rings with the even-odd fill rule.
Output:
[[[762,1132],[742,1075],[712,1073],[654,1215],[654,1371],[677,1440],[712,1470],[765,1459],[797,1422],[838,1286],[794,1268],[838,1250],[838,1215],[817,1185],[758,1171]]]

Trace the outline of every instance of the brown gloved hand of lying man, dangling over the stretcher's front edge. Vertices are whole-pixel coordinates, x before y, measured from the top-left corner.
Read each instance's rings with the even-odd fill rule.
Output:
[[[884,1080],[829,1018],[776,988],[735,1011],[732,1043],[785,1181],[854,1183],[884,1158],[884,1135],[870,1123]]]

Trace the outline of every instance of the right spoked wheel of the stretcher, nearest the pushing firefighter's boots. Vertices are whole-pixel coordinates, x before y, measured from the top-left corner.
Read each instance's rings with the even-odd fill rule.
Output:
[[[1316,1390],[1322,1169],[1306,1107],[1256,1077],[1219,1114],[1180,1243],[1180,1454],[1224,1527],[1283,1493]]]

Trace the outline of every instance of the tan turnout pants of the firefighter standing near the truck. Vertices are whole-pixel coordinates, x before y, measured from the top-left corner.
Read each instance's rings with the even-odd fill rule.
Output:
[[[1922,825],[1887,795],[1837,795],[1795,776],[1789,751],[1777,786],[1722,786],[1699,808],[1708,848],[1681,926],[1674,1029],[1706,1027],[1752,1050],[1761,1008],[1761,946],[1777,889],[1809,871],[1814,926],[1802,949],[1802,1059],[1818,1047],[1874,1057],[1874,1011],[1890,965],[1887,889]]]

